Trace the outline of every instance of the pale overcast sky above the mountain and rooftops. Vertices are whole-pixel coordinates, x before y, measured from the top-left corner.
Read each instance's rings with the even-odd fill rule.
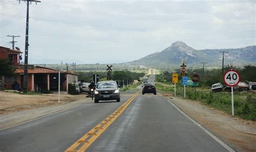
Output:
[[[29,14],[29,64],[130,62],[176,41],[256,45],[256,1],[42,0]],[[11,48],[6,35],[19,35],[15,47],[24,51],[25,24],[25,2],[0,0],[0,46]]]

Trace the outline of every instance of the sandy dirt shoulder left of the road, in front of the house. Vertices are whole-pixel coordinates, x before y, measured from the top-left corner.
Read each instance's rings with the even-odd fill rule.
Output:
[[[86,94],[72,96],[61,92],[60,103],[58,103],[58,95],[54,93],[20,95],[0,91],[0,129],[92,103],[92,99],[86,98],[86,96]]]

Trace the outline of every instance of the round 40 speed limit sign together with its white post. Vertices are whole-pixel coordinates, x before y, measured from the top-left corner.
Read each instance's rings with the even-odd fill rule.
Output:
[[[231,86],[231,105],[232,105],[232,115],[234,115],[234,86],[240,81],[240,74],[235,70],[228,70],[223,75],[223,80],[226,85]]]

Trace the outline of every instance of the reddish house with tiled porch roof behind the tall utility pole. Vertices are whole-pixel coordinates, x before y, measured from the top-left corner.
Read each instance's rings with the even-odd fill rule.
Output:
[[[10,60],[14,63],[15,76],[2,76],[0,80],[7,90],[22,90],[24,65],[19,63],[22,52],[5,47],[0,47],[0,59]],[[60,90],[68,91],[68,84],[77,82],[78,75],[70,71],[58,71],[55,69],[28,65],[28,91],[58,90],[58,74],[60,72]]]

